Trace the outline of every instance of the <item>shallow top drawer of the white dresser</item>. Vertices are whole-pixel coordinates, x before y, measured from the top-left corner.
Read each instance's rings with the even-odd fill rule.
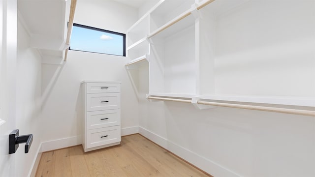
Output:
[[[87,93],[118,93],[120,84],[117,83],[88,83]]]

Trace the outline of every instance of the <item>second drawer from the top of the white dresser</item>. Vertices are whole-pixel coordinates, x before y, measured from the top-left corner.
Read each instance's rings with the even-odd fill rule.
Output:
[[[120,93],[88,93],[87,111],[120,109]]]

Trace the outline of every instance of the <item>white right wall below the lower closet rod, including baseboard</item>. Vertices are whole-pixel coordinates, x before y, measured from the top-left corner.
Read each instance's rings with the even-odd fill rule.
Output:
[[[140,133],[218,177],[314,177],[314,117],[143,100]]]

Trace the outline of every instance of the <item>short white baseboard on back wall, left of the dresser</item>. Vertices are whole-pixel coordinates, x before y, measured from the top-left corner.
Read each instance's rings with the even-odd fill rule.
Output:
[[[82,144],[82,136],[73,136],[68,138],[63,138],[59,140],[52,140],[47,142],[42,142],[41,150],[42,152],[49,151],[49,150],[55,150],[60,148],[66,148],[76,145]]]

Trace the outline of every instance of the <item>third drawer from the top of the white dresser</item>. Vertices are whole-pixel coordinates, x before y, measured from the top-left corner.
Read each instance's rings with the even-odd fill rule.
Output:
[[[87,112],[87,130],[120,125],[120,110]]]

